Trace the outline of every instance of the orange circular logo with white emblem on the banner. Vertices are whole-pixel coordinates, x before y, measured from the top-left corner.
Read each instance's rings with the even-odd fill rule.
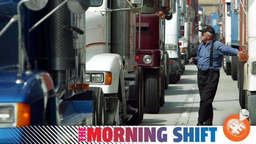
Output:
[[[250,132],[250,123],[246,116],[235,114],[227,117],[223,123],[225,136],[232,141],[244,140]]]

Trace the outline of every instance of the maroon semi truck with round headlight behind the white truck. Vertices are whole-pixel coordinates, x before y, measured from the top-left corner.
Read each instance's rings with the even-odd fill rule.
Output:
[[[144,71],[144,106],[148,113],[158,113],[164,105],[164,91],[169,84],[164,31],[165,20],[171,19],[171,7],[172,0],[143,0],[141,15],[137,15],[136,61]]]

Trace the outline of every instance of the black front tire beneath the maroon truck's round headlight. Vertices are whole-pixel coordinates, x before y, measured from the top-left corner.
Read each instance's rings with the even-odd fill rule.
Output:
[[[144,73],[145,107],[148,113],[158,113],[160,110],[159,75],[159,69],[148,69]]]

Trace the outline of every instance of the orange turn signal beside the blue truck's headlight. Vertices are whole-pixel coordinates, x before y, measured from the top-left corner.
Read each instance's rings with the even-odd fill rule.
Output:
[[[30,124],[30,106],[25,103],[17,103],[17,127]]]

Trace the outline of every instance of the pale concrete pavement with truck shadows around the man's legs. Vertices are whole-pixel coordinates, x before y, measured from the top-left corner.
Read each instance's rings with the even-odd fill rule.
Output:
[[[158,114],[144,113],[141,125],[196,125],[200,96],[197,87],[197,68],[188,64],[181,80],[169,84],[165,105]],[[213,125],[223,125],[229,115],[239,114],[237,81],[220,70],[218,90],[213,102]]]

